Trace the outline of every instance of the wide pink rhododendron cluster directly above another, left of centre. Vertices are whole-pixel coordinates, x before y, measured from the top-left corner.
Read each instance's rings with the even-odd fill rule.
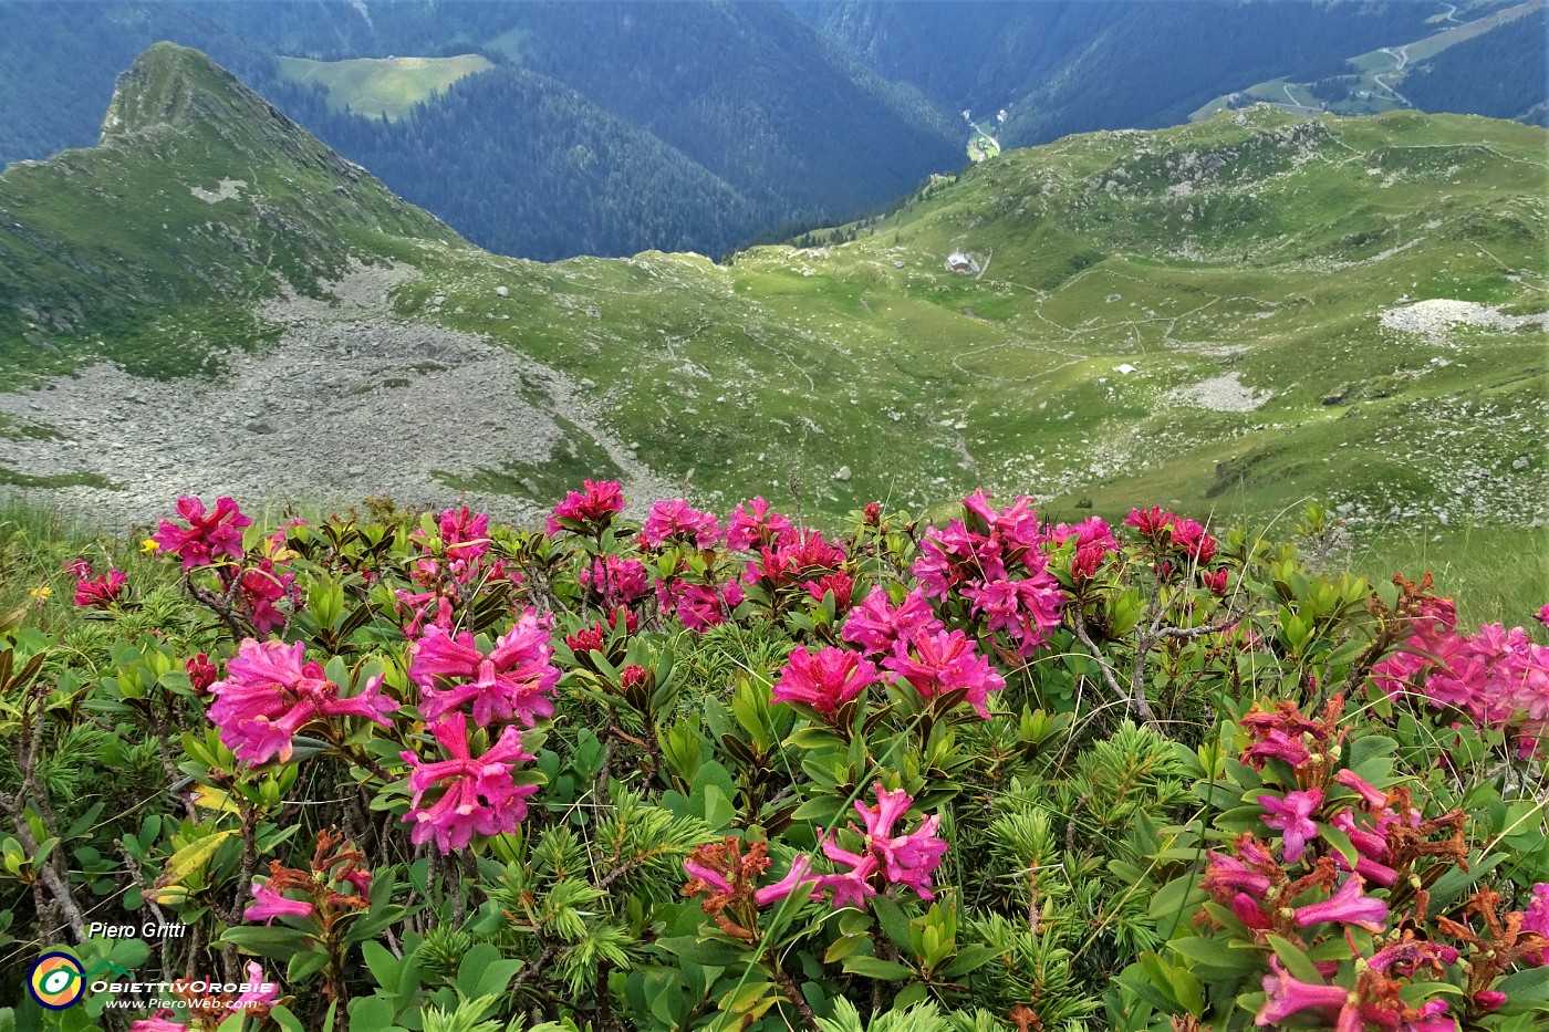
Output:
[[[423,690],[420,713],[426,721],[469,702],[479,727],[511,719],[533,727],[555,714],[559,668],[553,665],[548,620],[536,609],[527,609],[488,655],[466,631],[454,638],[440,628],[428,628],[410,654],[409,680]]]

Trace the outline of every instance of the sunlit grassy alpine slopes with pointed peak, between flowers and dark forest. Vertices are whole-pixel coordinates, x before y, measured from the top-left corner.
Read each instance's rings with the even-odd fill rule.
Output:
[[[166,67],[191,85],[163,85]],[[34,373],[0,395],[12,483],[121,485],[76,497],[127,511],[172,476],[208,491],[226,466],[266,470],[280,439],[324,476],[330,434],[375,426],[395,435],[383,456],[415,456],[426,428],[466,445],[421,468],[423,497],[511,511],[624,476],[716,505],[795,485],[812,516],[977,483],[1067,514],[1149,497],[1264,516],[1312,496],[1365,525],[1546,516],[1541,129],[1261,107],[1005,152],[821,246],[539,265],[457,240],[189,51],[156,48],[127,82],[115,110],[237,121],[150,116],[0,180],[20,270],[0,349]],[[977,274],[948,271],[957,253]],[[349,285],[367,273],[370,290]],[[342,284],[331,301],[318,276]],[[285,282],[319,301],[287,301]],[[223,428],[195,435],[204,482],[104,456],[113,428],[93,414],[112,406],[31,389],[96,356],[166,378],[220,342],[256,356],[234,387],[183,381],[240,398],[240,418],[200,415]],[[331,394],[249,404],[283,403],[291,387],[249,373],[288,355]],[[496,372],[449,418],[455,355]],[[302,415],[322,421],[291,432]],[[349,490],[386,488],[381,465]]]

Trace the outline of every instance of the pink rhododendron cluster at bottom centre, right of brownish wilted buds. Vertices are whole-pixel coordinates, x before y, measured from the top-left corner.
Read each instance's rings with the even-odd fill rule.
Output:
[[[926,817],[906,835],[895,835],[894,826],[908,814],[914,796],[903,789],[886,792],[880,781],[872,786],[872,792],[877,795],[874,806],[855,801],[855,812],[866,829],[861,831],[853,823],[849,826],[864,840],[861,852],[843,849],[832,835],[824,838],[824,855],[849,871],[816,879],[812,897],[823,899],[829,894],[835,906],[864,906],[866,899],[875,896],[878,888],[908,885],[920,899],[936,899],[931,874],[946,855],[946,841],[936,835],[940,815]]]

